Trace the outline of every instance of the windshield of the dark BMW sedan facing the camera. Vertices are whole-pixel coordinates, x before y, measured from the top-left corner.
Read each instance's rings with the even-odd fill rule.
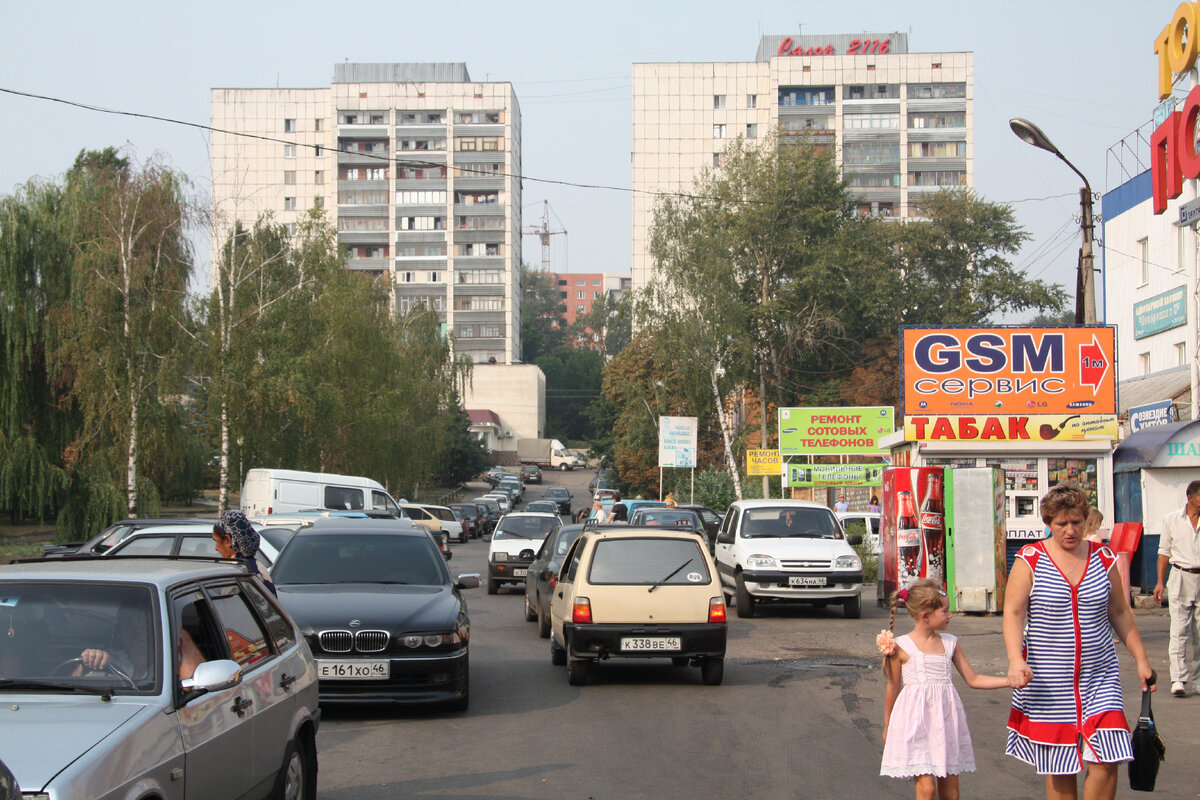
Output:
[[[377,534],[301,535],[271,570],[276,585],[293,583],[449,582],[445,560],[428,536]]]

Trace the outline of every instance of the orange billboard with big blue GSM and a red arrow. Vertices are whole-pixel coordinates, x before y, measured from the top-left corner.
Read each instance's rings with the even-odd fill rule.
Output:
[[[901,327],[904,414],[1115,415],[1116,329]]]

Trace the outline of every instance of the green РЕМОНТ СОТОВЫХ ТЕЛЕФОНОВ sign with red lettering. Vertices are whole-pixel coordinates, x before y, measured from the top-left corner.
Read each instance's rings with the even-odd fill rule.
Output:
[[[781,456],[878,455],[880,439],[895,431],[890,405],[779,409]]]

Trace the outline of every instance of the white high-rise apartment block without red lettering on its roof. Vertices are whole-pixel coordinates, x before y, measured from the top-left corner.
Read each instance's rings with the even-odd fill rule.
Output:
[[[521,110],[464,64],[337,64],[317,89],[214,89],[214,253],[235,221],[314,205],[397,312],[438,312],[476,363],[521,356]]]

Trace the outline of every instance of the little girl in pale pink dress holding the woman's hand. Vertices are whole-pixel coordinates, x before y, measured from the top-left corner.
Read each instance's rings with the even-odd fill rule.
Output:
[[[900,600],[913,628],[893,638]],[[974,771],[971,732],[962,700],[950,682],[950,666],[972,688],[1009,685],[1007,678],[974,670],[958,638],[943,632],[949,624],[949,597],[937,583],[923,579],[893,595],[888,630],[876,638],[888,679],[880,775],[913,780],[917,800],[956,800],[959,774]]]

